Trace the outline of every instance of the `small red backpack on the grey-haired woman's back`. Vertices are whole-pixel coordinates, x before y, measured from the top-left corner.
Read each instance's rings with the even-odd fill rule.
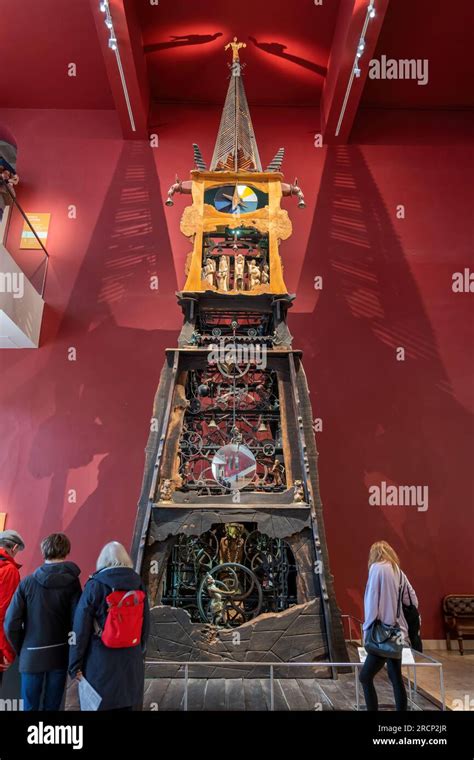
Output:
[[[112,591],[105,597],[107,617],[97,631],[112,649],[137,647],[141,643],[145,594],[143,591]]]

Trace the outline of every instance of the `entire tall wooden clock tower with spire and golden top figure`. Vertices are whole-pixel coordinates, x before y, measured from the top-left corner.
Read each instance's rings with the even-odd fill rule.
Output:
[[[347,660],[329,570],[313,416],[292,348],[280,244],[283,148],[262,169],[235,38],[210,168],[189,194],[184,324],[155,398],[133,553],[163,660]],[[225,668],[216,673],[225,676]],[[249,671],[250,673],[250,671]],[[293,677],[294,674],[292,674]]]

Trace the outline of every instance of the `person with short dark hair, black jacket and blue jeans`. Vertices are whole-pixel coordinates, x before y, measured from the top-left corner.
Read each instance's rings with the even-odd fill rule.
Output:
[[[67,679],[69,635],[81,596],[80,569],[67,562],[71,542],[52,533],[41,542],[44,564],[19,584],[5,633],[20,661],[23,709],[59,710]]]

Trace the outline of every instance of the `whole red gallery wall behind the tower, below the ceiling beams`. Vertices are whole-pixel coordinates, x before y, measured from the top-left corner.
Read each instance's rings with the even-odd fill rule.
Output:
[[[179,232],[187,200],[165,209],[163,197],[176,171],[187,176],[193,141],[209,159],[219,115],[161,108],[151,150],[123,142],[111,111],[0,111],[19,144],[21,203],[52,213],[41,348],[0,353],[0,511],[26,539],[24,572],[53,530],[71,536],[84,580],[104,542],[130,543],[190,250]],[[339,605],[361,616],[368,548],[385,538],[418,592],[425,638],[442,638],[443,595],[472,592],[473,325],[469,295],[451,290],[453,272],[472,268],[464,116],[365,111],[351,145],[317,149],[315,110],[252,115],[263,161],[284,145],[286,177],[307,198],[304,211],[287,202],[294,235],[281,252],[297,294],[294,345],[323,421]],[[368,488],[383,480],[428,486],[428,510],[370,506]]]

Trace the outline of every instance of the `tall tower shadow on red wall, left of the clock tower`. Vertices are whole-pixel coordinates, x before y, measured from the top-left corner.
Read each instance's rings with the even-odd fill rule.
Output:
[[[55,411],[29,457],[34,478],[51,478],[38,535],[67,529],[86,570],[105,542],[130,543],[155,386],[164,348],[176,341],[177,330],[127,326],[156,323],[160,310],[165,319],[170,298],[160,292],[175,301],[161,198],[149,146],[124,143],[44,371],[54,378]],[[150,289],[156,275],[158,293]],[[35,376],[31,388],[44,381]]]

